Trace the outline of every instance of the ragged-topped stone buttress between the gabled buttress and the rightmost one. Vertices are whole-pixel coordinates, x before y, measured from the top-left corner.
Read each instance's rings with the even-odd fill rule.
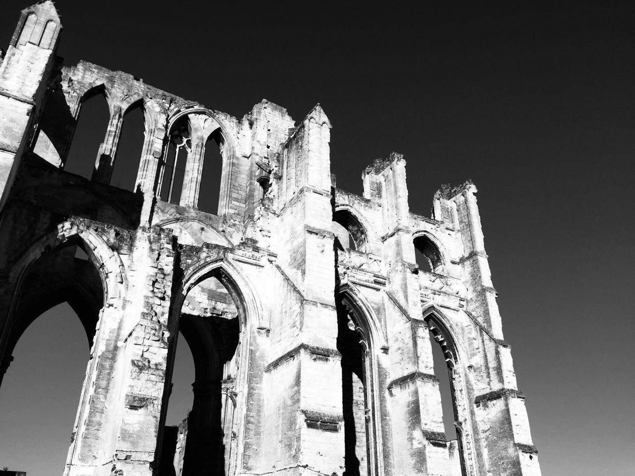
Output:
[[[388,159],[375,161],[363,175],[364,196],[382,206],[394,468],[401,474],[442,474],[450,463],[439,381],[421,319],[405,165],[403,155],[393,152]]]

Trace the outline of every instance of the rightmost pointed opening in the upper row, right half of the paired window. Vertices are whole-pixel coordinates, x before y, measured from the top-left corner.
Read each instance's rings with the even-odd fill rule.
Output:
[[[201,172],[201,188],[199,188],[198,208],[218,215],[220,200],[220,178],[223,172],[223,149],[225,140],[216,129],[205,143],[203,171]]]

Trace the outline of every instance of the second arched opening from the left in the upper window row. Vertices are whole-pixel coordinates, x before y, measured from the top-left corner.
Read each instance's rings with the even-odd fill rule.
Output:
[[[134,192],[145,138],[142,103],[129,107],[123,117],[110,185]]]

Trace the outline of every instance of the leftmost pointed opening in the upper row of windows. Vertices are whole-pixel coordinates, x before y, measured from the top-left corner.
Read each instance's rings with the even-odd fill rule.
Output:
[[[104,142],[110,112],[103,89],[84,99],[64,170],[91,179]]]

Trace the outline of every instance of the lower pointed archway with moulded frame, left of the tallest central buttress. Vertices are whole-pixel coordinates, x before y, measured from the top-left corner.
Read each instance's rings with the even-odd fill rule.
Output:
[[[170,319],[174,338],[170,343],[170,378],[166,379],[161,427],[168,409],[178,333],[194,357],[194,402],[185,421],[185,436],[181,437],[183,430],[178,430],[184,443],[177,440],[177,447],[172,447],[165,435],[159,439],[161,458],[167,462],[159,471],[162,476],[171,474],[170,461],[175,461],[175,472],[182,470],[183,476],[228,476],[241,465],[237,449],[244,437],[251,333],[248,322],[253,316],[248,310],[250,298],[243,293],[244,282],[239,287],[234,277],[235,268],[223,260],[202,260],[185,271]]]

